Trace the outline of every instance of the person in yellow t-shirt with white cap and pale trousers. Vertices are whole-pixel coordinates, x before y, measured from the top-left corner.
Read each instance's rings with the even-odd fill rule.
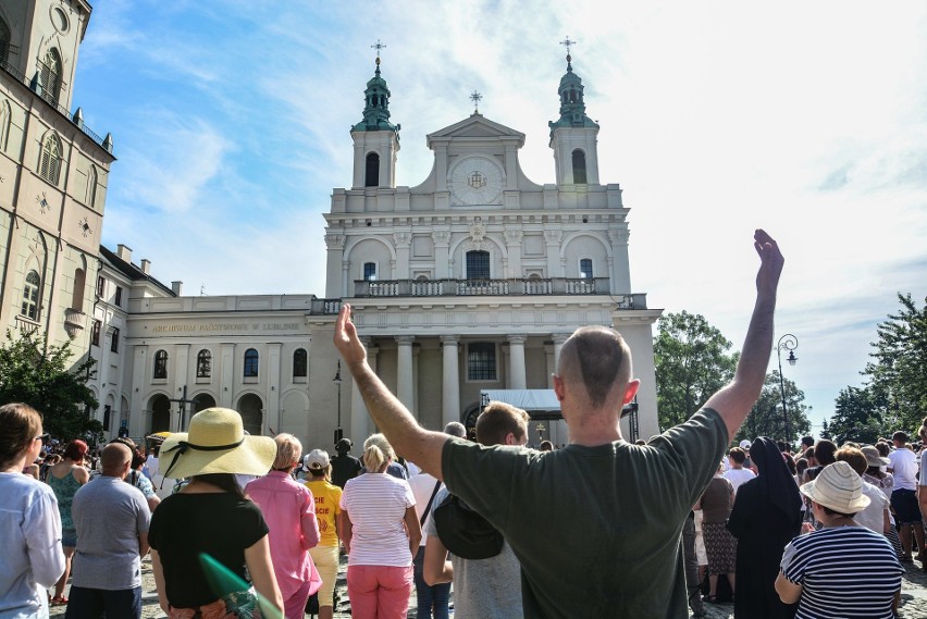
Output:
[[[332,619],[334,616],[335,581],[338,575],[337,517],[342,512],[342,488],[332,483],[332,463],[329,453],[312,449],[302,461],[302,468],[309,475],[306,487],[316,497],[316,518],[319,520],[319,545],[310,548],[309,554],[322,574],[322,587],[319,590],[319,619]]]

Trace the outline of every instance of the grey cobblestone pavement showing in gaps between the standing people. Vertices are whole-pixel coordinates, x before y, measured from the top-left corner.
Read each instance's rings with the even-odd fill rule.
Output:
[[[347,601],[347,585],[345,584],[345,560],[342,557],[342,569],[338,572],[338,582],[336,585],[341,594],[341,603],[335,609],[335,619],[347,619],[350,617],[350,604]],[[906,568],[906,572],[901,585],[901,619],[927,619],[927,573],[920,569],[919,562],[914,562],[913,565],[906,564],[904,567]],[[154,593],[154,577],[151,572],[150,557],[145,557],[141,562],[141,617],[144,619],[160,619],[165,617],[158,607],[158,595]],[[51,617],[64,617],[64,606],[52,607]],[[705,609],[707,610],[708,619],[733,619],[733,604],[706,604]],[[619,616],[620,614],[616,615],[616,617]],[[412,593],[412,599],[409,602],[408,617],[416,617],[415,592]]]

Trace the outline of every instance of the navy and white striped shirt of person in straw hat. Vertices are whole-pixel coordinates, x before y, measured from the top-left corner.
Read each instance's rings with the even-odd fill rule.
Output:
[[[891,619],[904,569],[885,536],[864,527],[821,529],[792,540],[782,574],[802,585],[795,619]]]

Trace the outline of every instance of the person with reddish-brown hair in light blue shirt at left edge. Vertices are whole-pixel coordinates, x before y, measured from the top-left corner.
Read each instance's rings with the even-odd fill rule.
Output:
[[[48,485],[23,474],[41,451],[41,417],[24,404],[0,406],[0,615],[48,617],[48,594],[64,571],[61,517]]]

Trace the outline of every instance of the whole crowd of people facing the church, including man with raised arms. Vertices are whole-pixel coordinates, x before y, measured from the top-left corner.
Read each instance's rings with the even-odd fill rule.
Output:
[[[82,441],[41,458],[41,416],[2,406],[0,617],[45,617],[49,604],[140,617],[150,549],[171,619],[329,619],[342,552],[362,619],[406,617],[413,589],[419,619],[448,617],[452,589],[461,618],[697,617],[729,595],[738,619],[891,619],[915,548],[927,569],[927,450],[901,431],[892,445],[728,448],[763,385],[782,268],[765,232],[754,246],[734,379],[638,443],[618,423],[640,383],[614,330],[563,345],[553,385],[569,444],[531,449],[527,413],[502,403],[480,414],[475,442],[458,423],[421,428],[370,369],[347,305],[335,346],[382,430],[359,459],[348,440],[334,457],[304,454],[291,434],[252,436],[236,411],[210,408],[157,459],[118,438],[88,467]],[[918,434],[927,443],[927,419]],[[145,474],[156,467],[183,480],[160,502]]]

